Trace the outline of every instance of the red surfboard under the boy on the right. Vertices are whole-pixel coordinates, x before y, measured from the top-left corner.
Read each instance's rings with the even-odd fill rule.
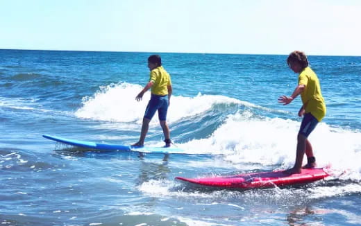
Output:
[[[256,189],[274,186],[306,184],[324,179],[329,175],[330,174],[327,173],[324,168],[303,168],[301,173],[294,173],[291,175],[283,173],[283,171],[272,171],[262,173],[244,173],[225,177],[176,177],[176,179],[190,182],[192,184],[225,189]]]

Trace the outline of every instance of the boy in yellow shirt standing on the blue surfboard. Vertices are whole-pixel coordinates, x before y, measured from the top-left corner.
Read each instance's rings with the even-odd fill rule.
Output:
[[[146,106],[140,139],[132,146],[144,146],[144,139],[148,132],[149,123],[158,110],[159,123],[165,135],[165,147],[169,147],[171,146],[171,139],[166,119],[172,92],[171,76],[169,76],[169,73],[162,67],[162,59],[159,55],[151,55],[148,58],[148,68],[151,70],[149,82],[135,99],[141,101],[144,93],[151,88],[151,100]]]

